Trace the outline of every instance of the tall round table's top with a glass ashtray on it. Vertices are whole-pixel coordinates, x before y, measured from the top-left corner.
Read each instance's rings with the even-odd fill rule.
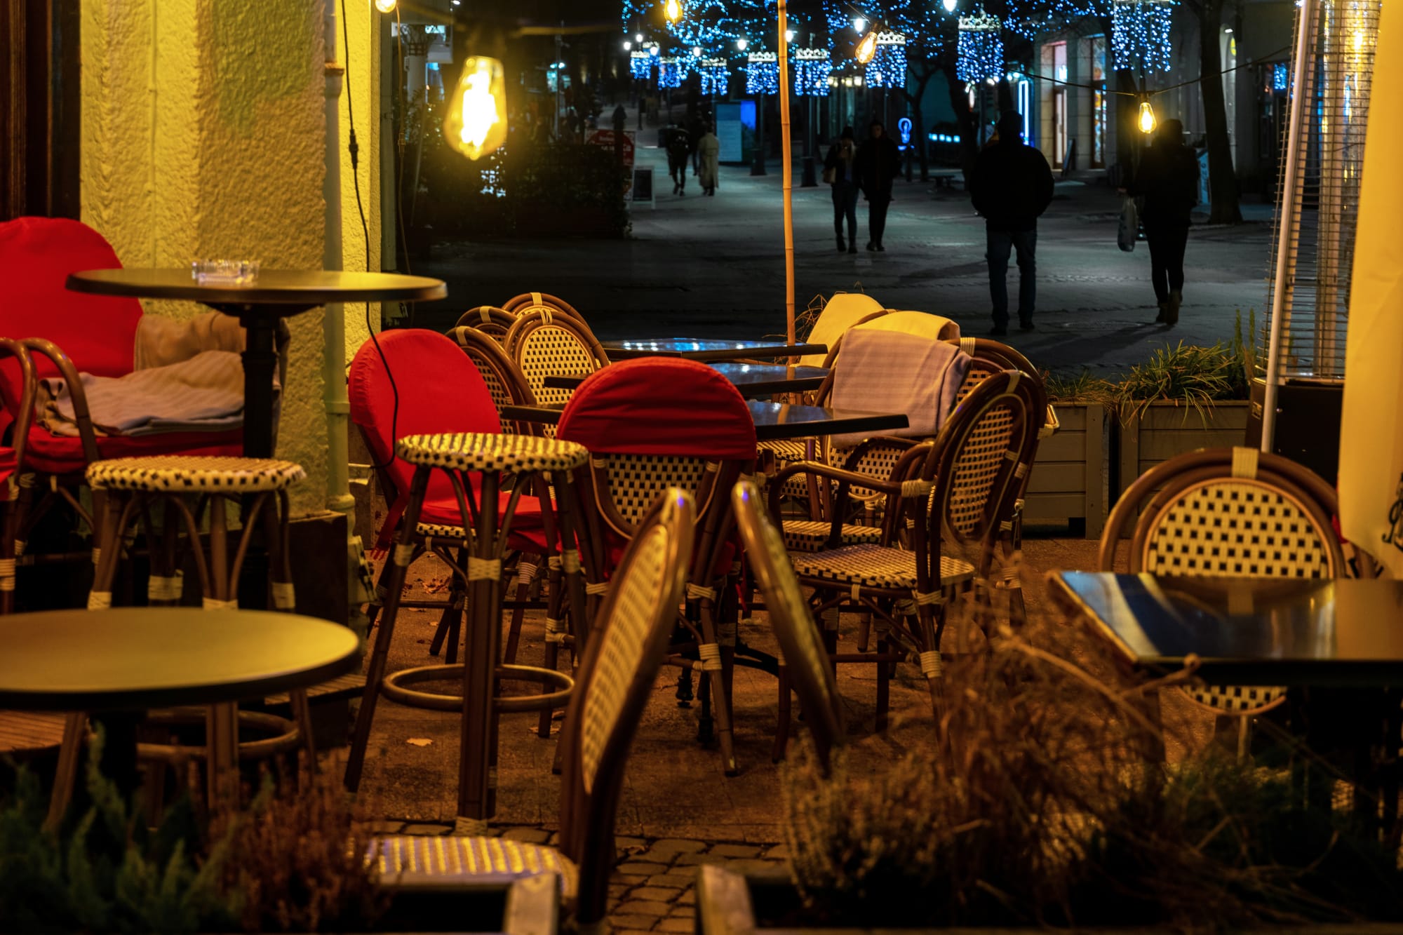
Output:
[[[191,299],[203,305],[293,305],[307,309],[328,302],[427,302],[442,299],[441,279],[396,272],[340,270],[262,270],[248,285],[201,284],[189,267],[177,270],[86,270],[69,275],[74,292],[143,299]]]

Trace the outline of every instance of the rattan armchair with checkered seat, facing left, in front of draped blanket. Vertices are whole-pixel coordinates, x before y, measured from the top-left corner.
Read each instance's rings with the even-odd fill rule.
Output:
[[[941,425],[933,442],[906,442],[885,480],[829,465],[794,465],[774,477],[770,511],[779,515],[779,486],[790,475],[812,473],[836,482],[836,500],[863,486],[887,500],[877,543],[842,545],[842,515],[829,519],[825,546],[790,552],[794,571],[814,588],[814,611],[832,640],[838,619],[826,611],[852,609],[878,621],[878,653],[888,640],[919,653],[932,703],[939,705],[940,640],[946,602],[968,585],[988,587],[1002,531],[1012,525],[1019,482],[1033,463],[1045,402],[1041,387],[1020,371],[979,382]],[[915,462],[912,460],[915,459]],[[916,463],[919,462],[919,463]],[[898,536],[905,532],[909,543]],[[915,625],[911,618],[915,616]],[[885,678],[885,664],[878,678]],[[881,682],[878,682],[881,688]],[[885,712],[878,710],[878,726]]]

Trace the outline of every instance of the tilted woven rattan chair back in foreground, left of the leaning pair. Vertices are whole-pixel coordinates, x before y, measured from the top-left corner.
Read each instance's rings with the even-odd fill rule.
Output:
[[[666,490],[638,526],[585,646],[565,712],[561,851],[579,866],[577,921],[603,918],[623,768],[692,559],[692,498]]]

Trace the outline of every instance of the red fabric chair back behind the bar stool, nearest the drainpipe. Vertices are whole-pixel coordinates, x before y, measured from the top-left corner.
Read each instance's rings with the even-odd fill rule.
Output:
[[[492,394],[457,344],[438,331],[422,329],[386,331],[379,341],[379,351],[373,341],[366,341],[356,351],[348,386],[351,420],[365,431],[376,463],[384,463],[394,449],[391,431],[396,438],[439,432],[501,434],[502,424]],[[384,354],[383,361],[380,354]],[[398,414],[396,389],[400,394]],[[386,470],[397,493],[405,494],[414,466],[396,458]],[[435,494],[452,496],[448,477],[441,472],[435,472],[429,483],[431,498]]]

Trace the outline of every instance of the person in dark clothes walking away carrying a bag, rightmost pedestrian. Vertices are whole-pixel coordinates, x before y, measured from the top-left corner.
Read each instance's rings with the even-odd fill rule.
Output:
[[[1184,125],[1159,125],[1155,143],[1141,154],[1129,194],[1143,198],[1141,223],[1149,241],[1150,281],[1159,300],[1155,321],[1173,327],[1184,300],[1184,247],[1188,212],[1198,204],[1198,156],[1184,146]]]

